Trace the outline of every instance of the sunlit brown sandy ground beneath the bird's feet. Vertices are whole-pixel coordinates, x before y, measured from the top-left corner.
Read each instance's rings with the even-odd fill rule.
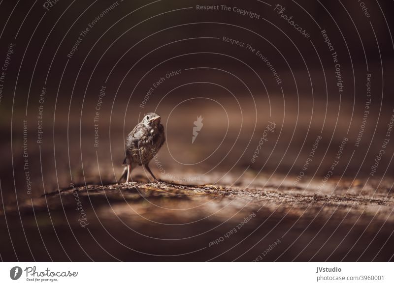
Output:
[[[2,249],[1,255],[13,257],[16,251],[20,260],[393,259],[390,185],[341,183],[332,194],[334,182],[319,193],[313,181],[303,190],[280,183],[260,179],[244,188],[247,180],[236,187],[138,182],[65,189],[5,206],[2,227],[8,227],[16,249]],[[6,221],[13,223],[6,226]]]

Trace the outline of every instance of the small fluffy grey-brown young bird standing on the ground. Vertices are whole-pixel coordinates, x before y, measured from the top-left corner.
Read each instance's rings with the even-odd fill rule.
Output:
[[[131,170],[135,165],[144,166],[157,181],[148,164],[164,142],[164,126],[160,122],[160,116],[155,113],[145,114],[142,121],[127,136],[126,158],[123,161],[123,166],[126,167],[119,181],[126,177],[126,183],[129,183]]]

